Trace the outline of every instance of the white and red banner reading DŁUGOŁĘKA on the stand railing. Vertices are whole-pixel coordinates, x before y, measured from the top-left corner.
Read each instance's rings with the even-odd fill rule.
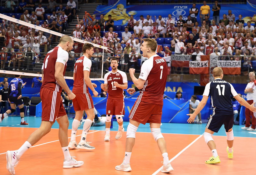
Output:
[[[223,74],[227,75],[237,75],[241,74],[241,61],[225,61],[218,60],[218,67],[221,67]]]

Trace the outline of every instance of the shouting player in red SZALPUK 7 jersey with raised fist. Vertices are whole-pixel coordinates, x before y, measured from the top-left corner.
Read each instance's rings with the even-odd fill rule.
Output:
[[[144,39],[140,49],[143,52],[142,56],[149,59],[142,64],[138,79],[134,76],[135,69],[131,68],[129,70],[136,89],[140,89],[140,95],[134,103],[129,116],[130,123],[127,126],[124,160],[121,165],[116,166],[116,170],[132,170],[130,158],[135,143],[135,133],[140,123],[150,123],[151,133],[164,158],[161,172],[168,173],[173,171],[171,163],[169,163],[165,139],[160,130],[163,93],[168,68],[165,59],[155,54],[156,48],[157,42],[155,39]],[[135,88],[127,89],[127,92],[130,94],[133,94],[135,91]]]

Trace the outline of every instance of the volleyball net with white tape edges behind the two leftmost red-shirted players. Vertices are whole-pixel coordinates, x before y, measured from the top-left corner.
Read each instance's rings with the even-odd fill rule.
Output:
[[[56,21],[49,25],[44,20],[28,23],[15,19],[15,15],[12,14],[0,14],[0,73],[41,76],[45,55],[59,44],[60,37],[64,35],[58,32],[61,28],[62,25]],[[65,79],[73,79],[74,64],[83,55],[82,47],[84,43],[90,43],[94,46],[95,52],[91,59],[90,78],[102,80],[105,72],[104,60],[112,53],[112,49],[97,42],[88,42],[86,37],[83,40],[79,39],[82,37],[77,36],[75,32],[69,36],[73,39],[74,45],[73,50],[69,51]]]

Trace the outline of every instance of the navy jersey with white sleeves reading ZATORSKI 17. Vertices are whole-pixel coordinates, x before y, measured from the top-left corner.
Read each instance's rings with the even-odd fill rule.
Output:
[[[213,113],[212,115],[233,115],[233,105],[230,95],[237,96],[236,90],[222,79],[209,82],[204,89],[203,96],[211,95]]]

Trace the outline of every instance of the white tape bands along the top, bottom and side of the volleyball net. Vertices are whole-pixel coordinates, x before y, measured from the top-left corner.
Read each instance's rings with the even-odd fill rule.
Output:
[[[39,31],[47,32],[47,33],[52,34],[52,35],[56,35],[56,36],[60,36],[60,37],[63,36],[62,33],[55,32],[55,31],[52,31],[52,30],[49,30],[49,29],[46,29],[46,28],[43,28],[43,27],[40,27],[40,26],[31,24],[31,23],[28,23],[28,22],[25,22],[25,21],[22,21],[22,20],[19,20],[19,19],[15,19],[15,18],[12,18],[12,17],[10,17],[10,16],[3,15],[3,14],[1,14],[1,13],[0,13],[0,18],[3,19],[3,20],[8,20],[8,21],[14,22],[14,23],[16,23],[16,24],[28,26],[28,27],[30,27],[31,29],[36,29],[36,30],[39,30]],[[104,24],[104,25],[105,25],[105,24]],[[104,27],[104,28],[105,28],[105,27]],[[87,42],[87,41],[84,41],[84,40],[75,38],[75,37],[73,37],[73,36],[70,36],[70,37],[73,39],[73,41],[80,42],[80,43],[90,43],[90,44],[92,44],[94,47],[101,48],[101,49],[103,49],[103,53],[104,53],[104,50],[106,50],[106,51],[109,52],[109,53],[113,53],[113,49],[112,49],[112,48],[108,48],[108,47],[106,47],[106,46],[102,46],[102,45],[98,45],[98,44],[95,44],[95,43]],[[0,42],[2,42],[2,41],[0,41]],[[103,59],[104,59],[104,55],[102,55],[102,71],[101,71],[101,78],[91,78],[91,80],[103,80]],[[22,65],[21,65],[21,66],[22,66]],[[4,73],[4,74],[14,74],[14,75],[23,75],[23,76],[42,76],[41,74],[36,74],[36,73],[17,72],[17,71],[11,71],[11,70],[0,70],[0,73]],[[71,77],[71,76],[64,76],[64,78],[65,78],[65,79],[73,79],[73,77]]]

